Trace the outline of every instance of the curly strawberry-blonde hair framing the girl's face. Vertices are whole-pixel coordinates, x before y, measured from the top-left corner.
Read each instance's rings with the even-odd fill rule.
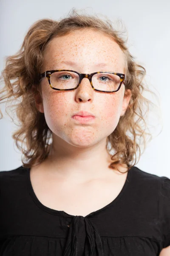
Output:
[[[22,157],[24,156],[22,159],[23,167],[29,168],[35,163],[42,163],[50,151],[52,132],[45,121],[44,113],[37,110],[34,100],[37,93],[41,94],[39,74],[43,62],[43,50],[53,38],[84,28],[102,32],[122,49],[126,60],[125,96],[127,89],[130,89],[132,93],[125,114],[120,116],[117,127],[107,137],[106,148],[108,152],[115,151],[111,155],[113,162],[109,168],[117,169],[116,166],[126,164],[129,170],[136,164],[136,152],[138,150],[139,158],[141,156],[142,143],[138,142],[137,139],[143,139],[144,149],[146,147],[146,135],[150,140],[152,139],[152,135],[146,132],[144,120],[144,106],[147,106],[147,113],[149,104],[153,104],[142,96],[144,91],[153,93],[146,88],[147,84],[143,82],[146,73],[145,68],[134,60],[127,49],[127,39],[123,39],[121,32],[113,28],[111,20],[102,20],[97,15],[79,14],[73,8],[67,17],[59,21],[41,19],[35,22],[28,30],[19,51],[6,58],[6,65],[1,76],[1,81],[5,85],[0,91],[0,102],[7,99],[6,102],[17,103],[9,107],[14,108],[19,121],[19,128],[12,134],[12,138],[15,140],[17,148],[22,152]],[[3,95],[4,93],[5,95]],[[0,115],[1,119],[3,117],[1,111]],[[142,128],[141,121],[145,125],[144,128]],[[21,145],[18,144],[19,142]],[[24,149],[24,144],[26,149]],[[135,160],[134,163],[132,163],[133,160]]]

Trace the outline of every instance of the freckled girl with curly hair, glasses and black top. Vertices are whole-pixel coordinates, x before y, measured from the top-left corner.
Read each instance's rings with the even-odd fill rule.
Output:
[[[38,20],[2,75],[25,159],[0,172],[0,255],[170,253],[170,179],[135,166],[145,69],[111,22]]]

